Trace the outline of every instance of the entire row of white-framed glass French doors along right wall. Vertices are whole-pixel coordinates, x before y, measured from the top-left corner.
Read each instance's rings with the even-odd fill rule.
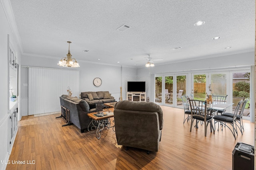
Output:
[[[180,90],[183,90],[180,95],[192,94],[197,100],[205,100],[206,93],[228,95],[227,102],[234,105],[226,111],[232,113],[241,99],[250,98],[250,70],[166,74],[156,77],[156,103],[182,108],[178,95]],[[250,119],[250,101],[245,108],[246,116],[243,119]]]

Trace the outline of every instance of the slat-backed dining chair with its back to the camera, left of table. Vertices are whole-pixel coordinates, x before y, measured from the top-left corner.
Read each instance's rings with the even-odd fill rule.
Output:
[[[190,124],[190,132],[192,130],[192,125],[194,123],[194,119],[196,119],[196,127],[198,128],[197,124],[198,121],[204,122],[204,136],[206,137],[207,127],[210,123],[210,129],[212,132],[212,116],[207,114],[206,109],[206,101],[203,100],[190,100],[188,98],[191,110],[191,124]]]

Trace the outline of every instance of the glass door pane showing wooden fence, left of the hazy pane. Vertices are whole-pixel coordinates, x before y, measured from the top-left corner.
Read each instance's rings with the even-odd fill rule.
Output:
[[[194,99],[205,100],[206,74],[194,74]]]

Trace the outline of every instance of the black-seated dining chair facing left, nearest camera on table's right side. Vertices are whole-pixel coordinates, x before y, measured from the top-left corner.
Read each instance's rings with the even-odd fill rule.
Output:
[[[225,127],[228,127],[228,129],[230,129],[230,131],[232,132],[235,139],[236,139],[236,135],[238,135],[237,134],[237,128],[235,129],[235,127],[236,127],[236,116],[237,116],[237,114],[239,112],[239,109],[240,109],[240,106],[243,102],[244,101],[238,102],[238,104],[236,106],[236,109],[234,111],[234,116],[233,117],[228,117],[228,116],[224,116],[224,115],[216,115],[216,116],[213,117],[213,119],[215,121],[218,121],[218,122],[222,123],[222,129],[221,130],[223,130],[224,123],[229,123],[230,125],[232,125],[233,131],[230,129],[230,127],[226,126],[226,124],[225,124]],[[215,129],[215,123],[214,123],[214,129]],[[218,129],[218,131],[219,131],[219,129]],[[236,134],[235,134],[235,132],[236,132]]]

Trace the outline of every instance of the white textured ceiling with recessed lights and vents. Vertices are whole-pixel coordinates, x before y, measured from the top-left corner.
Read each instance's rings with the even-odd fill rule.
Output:
[[[141,67],[147,54],[153,61],[163,59],[154,61],[160,65],[254,51],[254,0],[10,2],[23,55],[52,57],[56,63],[66,57],[67,41],[72,41],[70,51],[80,65],[90,61]],[[194,26],[199,20],[205,24]],[[130,28],[116,30],[124,24]],[[217,36],[221,38],[212,39]]]

